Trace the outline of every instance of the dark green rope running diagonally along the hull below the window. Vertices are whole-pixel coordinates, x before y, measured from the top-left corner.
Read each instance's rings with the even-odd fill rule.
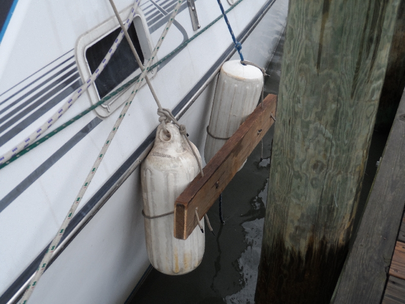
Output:
[[[233,4],[228,10],[225,11],[225,13],[229,13],[231,10],[233,10],[239,3],[241,3],[243,0],[238,0],[235,4]],[[183,49],[186,45],[188,45],[191,41],[193,41],[194,39],[196,39],[196,37],[198,37],[200,34],[202,34],[203,32],[205,32],[207,29],[209,29],[211,26],[213,26],[215,23],[217,23],[221,18],[223,17],[223,15],[221,14],[220,16],[218,16],[216,19],[214,19],[211,23],[209,23],[206,27],[204,27],[203,29],[199,30],[197,33],[195,33],[192,37],[190,37],[188,40],[184,41],[182,44],[180,44],[177,48],[175,48],[173,51],[171,51],[169,54],[167,54],[165,57],[163,57],[162,59],[158,60],[156,63],[152,64],[150,66],[150,70],[154,69],[155,67],[157,67],[160,63],[168,60],[170,57],[172,57],[175,53],[177,53],[179,50]],[[97,108],[98,106],[100,106],[101,104],[105,103],[106,101],[108,101],[109,99],[113,98],[114,96],[116,96],[117,94],[119,94],[120,92],[122,92],[123,90],[127,89],[129,86],[131,86],[133,83],[135,83],[137,80],[139,79],[139,75],[135,76],[133,79],[129,80],[127,83],[123,84],[122,86],[120,86],[119,88],[117,88],[115,91],[109,93],[107,96],[103,97],[100,101],[98,101],[97,103],[91,105],[90,107],[88,107],[87,109],[85,109],[84,111],[80,112],[78,115],[76,115],[75,117],[71,118],[70,120],[68,120],[67,122],[65,122],[62,126],[56,128],[55,130],[51,131],[50,133],[48,133],[46,136],[39,138],[38,140],[34,141],[33,143],[31,143],[30,145],[28,145],[26,148],[23,148],[20,152],[18,152],[18,150],[13,151],[12,157],[9,160],[5,160],[2,159],[0,157],[0,159],[2,159],[0,161],[0,169],[4,168],[5,166],[7,166],[8,164],[14,162],[16,159],[18,159],[19,157],[21,157],[22,155],[26,154],[28,151],[32,150],[33,148],[35,148],[36,146],[38,146],[39,144],[47,141],[49,138],[51,138],[52,136],[56,135],[57,133],[59,133],[60,131],[62,131],[63,129],[65,129],[66,127],[70,126],[72,123],[74,123],[75,121],[79,120],[80,118],[84,117],[87,113],[91,112],[92,110],[94,110],[95,108]],[[46,130],[44,130],[46,131]],[[24,142],[25,143],[25,142]]]

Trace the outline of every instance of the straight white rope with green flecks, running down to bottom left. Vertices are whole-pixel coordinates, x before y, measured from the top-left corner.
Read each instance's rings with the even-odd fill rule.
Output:
[[[137,0],[137,2],[138,1],[139,0]],[[123,121],[123,119],[125,117],[125,114],[128,111],[128,108],[130,107],[130,105],[132,103],[132,100],[135,97],[135,94],[138,92],[138,90],[139,90],[139,88],[141,86],[141,83],[145,79],[145,75],[149,71],[150,66],[152,65],[153,59],[156,56],[158,50],[160,49],[160,46],[163,43],[163,41],[165,39],[165,36],[169,31],[170,26],[172,25],[173,20],[174,20],[175,16],[177,15],[177,12],[178,12],[178,10],[180,8],[181,3],[182,3],[182,0],[177,1],[176,7],[175,7],[172,15],[170,16],[170,19],[169,19],[167,25],[165,26],[165,28],[163,30],[163,33],[160,35],[160,38],[157,41],[157,44],[156,44],[155,48],[153,49],[151,57],[149,58],[148,62],[146,63],[146,66],[143,69],[137,83],[135,84],[134,89],[133,89],[130,97],[128,98],[127,102],[125,103],[125,106],[124,106],[123,110],[121,110],[121,113],[120,113],[117,121],[115,122],[110,134],[108,135],[107,140],[106,140],[104,146],[102,147],[102,149],[100,151],[100,154],[97,157],[97,159],[96,159],[96,161],[95,161],[95,163],[93,165],[93,168],[89,172],[89,174],[88,174],[82,188],[80,188],[80,191],[79,191],[76,199],[74,200],[72,206],[70,207],[70,210],[68,211],[65,219],[63,220],[62,225],[60,226],[60,229],[58,230],[57,235],[52,240],[51,245],[49,246],[47,252],[45,253],[45,256],[43,257],[41,263],[39,264],[39,267],[38,267],[37,271],[35,272],[33,278],[30,280],[30,282],[28,284],[28,287],[25,290],[25,292],[24,292],[24,294],[23,294],[23,296],[22,296],[22,298],[20,300],[20,304],[26,304],[28,298],[30,297],[30,295],[32,294],[35,286],[37,285],[37,282],[38,282],[39,278],[41,278],[41,276],[44,273],[49,261],[51,260],[53,251],[55,250],[56,246],[58,245],[59,241],[61,240],[61,238],[62,238],[62,236],[63,236],[63,234],[65,232],[65,229],[66,229],[67,225],[69,224],[70,220],[73,218],[74,211],[76,210],[77,206],[79,205],[80,201],[82,200],[83,196],[85,195],[85,193],[87,191],[87,188],[88,188],[91,180],[93,179],[93,177],[94,177],[94,175],[95,175],[95,173],[96,173],[96,171],[97,171],[97,169],[98,169],[98,167],[99,167],[99,165],[100,165],[100,163],[101,163],[101,161],[102,161],[102,159],[103,159],[103,157],[104,157],[104,155],[105,155],[105,153],[106,153],[106,151],[107,151],[107,149],[109,147],[109,144],[111,143],[111,140],[114,138],[114,135],[116,134],[116,131],[118,130],[119,125]]]

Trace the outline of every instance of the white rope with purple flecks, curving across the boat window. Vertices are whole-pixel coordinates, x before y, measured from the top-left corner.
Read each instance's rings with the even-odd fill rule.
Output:
[[[126,28],[129,28],[132,20],[135,17],[136,10],[138,9],[140,0],[136,0],[131,12],[126,20]],[[114,43],[112,44],[111,48],[109,49],[107,55],[105,55],[104,59],[101,61],[100,65],[94,71],[94,73],[90,76],[90,78],[85,81],[85,83],[80,86],[73,95],[69,98],[65,104],[62,105],[55,113],[48,119],[41,127],[37,128],[33,133],[31,133],[27,138],[9,150],[3,156],[0,156],[0,165],[9,161],[13,156],[17,155],[21,152],[21,150],[25,149],[28,145],[30,145],[35,139],[41,136],[45,131],[47,131],[66,111],[68,108],[72,106],[72,104],[80,97],[86,90],[94,83],[100,73],[103,71],[104,67],[110,61],[112,55],[114,54],[115,50],[117,49],[118,45],[124,38],[124,32],[121,30],[117,38],[115,39]]]

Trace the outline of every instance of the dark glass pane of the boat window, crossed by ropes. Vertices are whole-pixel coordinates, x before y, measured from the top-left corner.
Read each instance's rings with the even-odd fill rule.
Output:
[[[101,40],[87,48],[86,61],[89,65],[91,73],[93,73],[97,69],[105,54],[108,53],[108,50],[118,36],[120,30],[121,28],[118,27],[117,29],[113,30],[108,35],[103,37]],[[134,23],[130,25],[128,34],[131,37],[132,43],[135,46],[139,58],[142,62],[144,62],[144,56]],[[130,45],[126,37],[124,37],[124,39],[118,45],[115,53],[112,55],[110,61],[94,82],[99,98],[101,99],[108,93],[110,93],[115,87],[126,80],[126,78],[129,77],[129,75],[131,75],[138,68],[138,63],[135,60]]]

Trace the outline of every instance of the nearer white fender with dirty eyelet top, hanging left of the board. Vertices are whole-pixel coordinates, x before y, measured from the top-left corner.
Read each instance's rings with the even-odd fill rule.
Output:
[[[146,251],[152,266],[167,275],[194,270],[205,250],[205,235],[198,226],[186,240],[174,237],[176,198],[198,174],[198,163],[179,128],[159,124],[152,150],[141,164]],[[191,143],[197,157],[198,149]],[[201,231],[204,220],[200,222]]]

